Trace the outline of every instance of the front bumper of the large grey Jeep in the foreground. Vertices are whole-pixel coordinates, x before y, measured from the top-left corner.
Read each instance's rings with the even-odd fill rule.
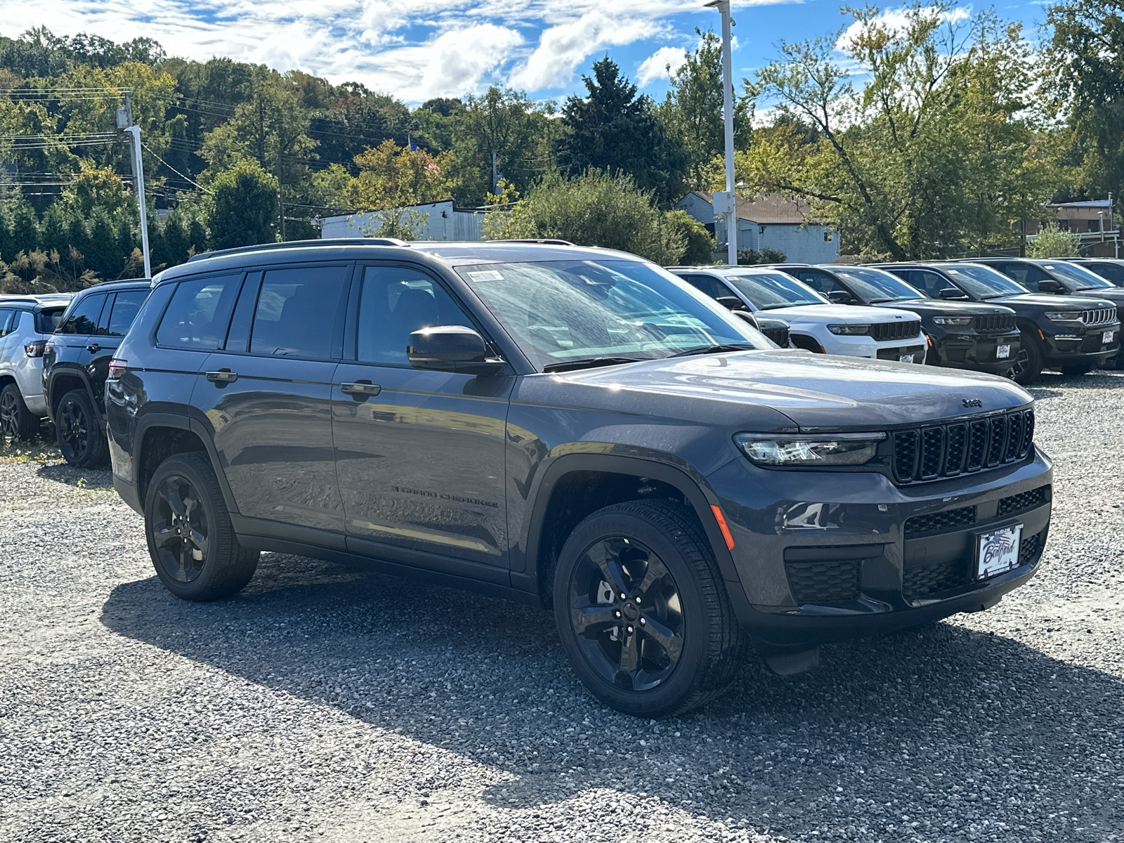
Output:
[[[759,645],[799,649],[972,611],[1026,582],[1049,534],[1048,457],[897,487],[877,473],[770,471],[735,460],[707,478],[734,538],[733,599]],[[813,490],[815,497],[809,497]],[[1017,568],[976,579],[976,536],[1023,524]]]

